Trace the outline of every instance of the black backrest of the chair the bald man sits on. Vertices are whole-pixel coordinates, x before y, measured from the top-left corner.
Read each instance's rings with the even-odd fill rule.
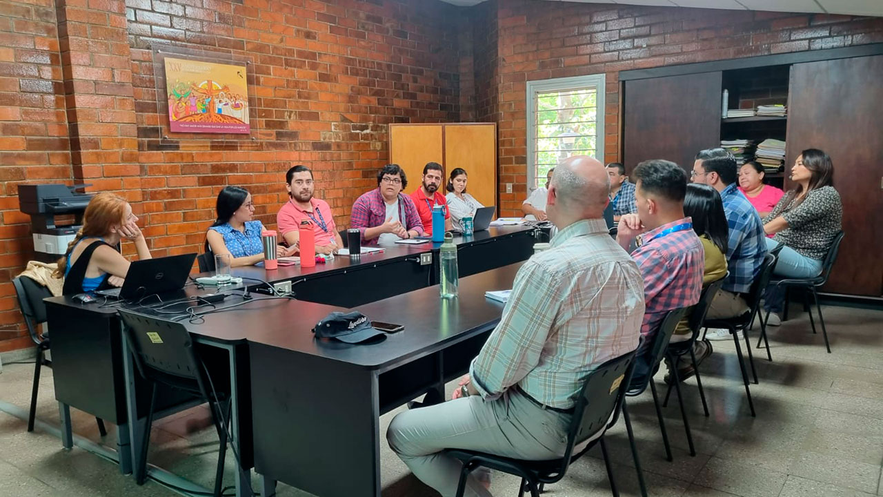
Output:
[[[585,378],[570,420],[567,450],[562,458],[562,476],[570,464],[574,447],[616,424],[623,396],[631,381],[631,371],[634,370],[635,354],[643,343],[644,337],[641,337],[638,348],[608,360]]]

